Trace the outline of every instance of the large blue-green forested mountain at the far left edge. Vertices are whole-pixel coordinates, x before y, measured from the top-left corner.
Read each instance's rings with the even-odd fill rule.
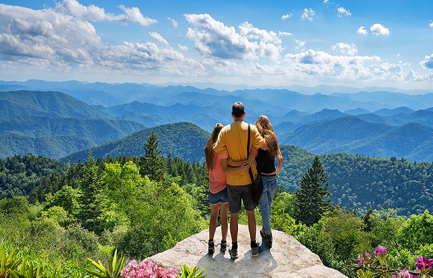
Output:
[[[147,127],[59,92],[0,92],[0,108],[0,158],[33,153],[59,159]]]

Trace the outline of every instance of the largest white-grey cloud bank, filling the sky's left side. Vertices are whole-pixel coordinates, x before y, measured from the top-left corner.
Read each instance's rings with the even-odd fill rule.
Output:
[[[0,4],[0,67],[46,71],[127,72],[203,75],[198,61],[153,43],[108,45],[95,27],[54,9],[33,10]],[[164,42],[159,34],[152,37]],[[161,40],[162,39],[162,40]],[[168,45],[168,43],[167,43]]]

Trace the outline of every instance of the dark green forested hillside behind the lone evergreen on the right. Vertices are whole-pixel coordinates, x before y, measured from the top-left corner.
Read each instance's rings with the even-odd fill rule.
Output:
[[[294,146],[281,146],[284,165],[279,184],[294,192],[311,167],[314,155]],[[404,159],[366,157],[345,153],[319,156],[326,171],[331,200],[340,207],[396,209],[399,215],[422,214],[433,207],[433,164]]]

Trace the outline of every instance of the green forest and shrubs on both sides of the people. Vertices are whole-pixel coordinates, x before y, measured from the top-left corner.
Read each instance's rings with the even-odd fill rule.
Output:
[[[162,156],[153,133],[142,148],[141,156],[95,160],[89,153],[77,164],[32,154],[0,160],[1,254],[15,250],[16,257],[43,265],[48,273],[55,269],[55,277],[91,277],[85,271],[92,267],[88,257],[105,264],[117,250],[126,262],[139,261],[206,229],[205,165]],[[326,266],[357,277],[351,260],[379,246],[386,246],[393,265],[407,270],[415,270],[420,255],[433,258],[433,216],[427,210],[431,163],[314,156],[293,146],[281,151],[285,165],[272,203],[272,227],[294,236]],[[323,167],[319,172],[329,186],[320,190],[320,211],[307,219],[301,208],[308,198],[302,199],[299,186],[308,185],[311,167]],[[373,182],[378,176],[381,184]],[[354,179],[364,184],[356,194],[350,187]],[[337,184],[344,185],[339,194]],[[338,200],[354,206],[337,205]],[[380,209],[371,209],[373,204]],[[246,224],[245,212],[239,219]]]

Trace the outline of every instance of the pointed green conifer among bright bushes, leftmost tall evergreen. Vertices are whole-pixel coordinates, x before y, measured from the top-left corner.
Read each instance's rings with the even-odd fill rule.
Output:
[[[84,165],[83,174],[80,181],[82,195],[80,197],[81,210],[77,217],[81,225],[100,234],[100,216],[103,211],[102,200],[100,196],[101,176],[98,173],[99,168],[95,164],[92,154]]]

